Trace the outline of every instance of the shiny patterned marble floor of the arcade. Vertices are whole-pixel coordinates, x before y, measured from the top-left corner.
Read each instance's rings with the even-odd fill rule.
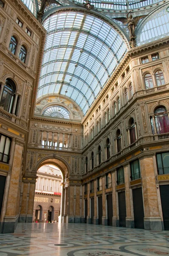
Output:
[[[0,256],[169,255],[169,231],[92,224],[18,224],[0,234]]]

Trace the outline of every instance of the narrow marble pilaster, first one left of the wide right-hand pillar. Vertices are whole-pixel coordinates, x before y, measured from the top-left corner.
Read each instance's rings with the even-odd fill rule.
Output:
[[[132,189],[130,189],[130,164],[127,163],[124,168],[125,195],[126,195],[126,227],[134,228],[134,215],[132,207]]]

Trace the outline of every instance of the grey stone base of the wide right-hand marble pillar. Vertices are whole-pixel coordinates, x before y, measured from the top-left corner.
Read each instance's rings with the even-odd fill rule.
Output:
[[[145,230],[163,230],[163,221],[160,217],[144,217]]]

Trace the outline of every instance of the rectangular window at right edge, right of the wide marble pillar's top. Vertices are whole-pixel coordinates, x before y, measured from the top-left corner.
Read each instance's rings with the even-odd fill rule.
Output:
[[[156,154],[158,174],[169,173],[169,152]]]

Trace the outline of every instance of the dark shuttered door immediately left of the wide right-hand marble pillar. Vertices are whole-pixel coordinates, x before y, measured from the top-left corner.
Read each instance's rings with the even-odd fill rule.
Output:
[[[135,228],[144,229],[144,207],[142,188],[132,190],[134,226]]]

